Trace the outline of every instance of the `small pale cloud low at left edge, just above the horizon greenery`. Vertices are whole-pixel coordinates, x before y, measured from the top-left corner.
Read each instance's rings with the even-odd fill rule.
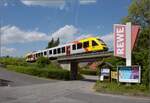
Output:
[[[2,54],[2,56],[13,55],[14,53],[16,53],[16,51],[17,50],[15,48],[1,47],[1,54]]]

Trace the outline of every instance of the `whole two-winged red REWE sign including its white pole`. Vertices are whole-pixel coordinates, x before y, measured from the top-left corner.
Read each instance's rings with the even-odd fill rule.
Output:
[[[140,27],[128,22],[114,24],[114,56],[126,58],[126,66],[131,66],[131,54]]]

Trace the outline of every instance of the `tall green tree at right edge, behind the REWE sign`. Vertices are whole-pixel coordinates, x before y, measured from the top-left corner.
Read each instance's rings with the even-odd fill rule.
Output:
[[[123,23],[132,22],[141,26],[136,46],[133,50],[133,64],[142,66],[142,83],[150,86],[150,0],[133,0],[128,9],[128,16]]]

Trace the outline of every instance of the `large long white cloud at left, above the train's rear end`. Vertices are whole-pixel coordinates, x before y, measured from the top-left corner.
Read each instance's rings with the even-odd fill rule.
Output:
[[[42,32],[25,31],[16,26],[4,26],[1,28],[2,44],[25,43],[33,41],[44,41],[49,37]]]

